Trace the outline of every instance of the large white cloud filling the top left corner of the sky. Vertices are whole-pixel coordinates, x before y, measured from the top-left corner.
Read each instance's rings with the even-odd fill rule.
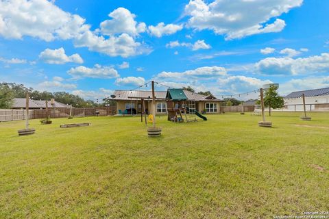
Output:
[[[5,38],[32,36],[45,41],[66,40],[88,28],[84,18],[64,12],[50,1],[0,1],[0,35]]]

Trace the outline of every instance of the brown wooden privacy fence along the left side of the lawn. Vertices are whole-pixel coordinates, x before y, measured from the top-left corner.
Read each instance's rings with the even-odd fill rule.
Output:
[[[114,115],[117,107],[96,107],[96,108],[72,108],[72,116],[109,116]],[[23,120],[25,119],[25,110],[0,110],[0,122]],[[48,115],[50,118],[63,118],[70,115],[70,109],[49,108]],[[46,118],[46,110],[29,110],[29,118]]]

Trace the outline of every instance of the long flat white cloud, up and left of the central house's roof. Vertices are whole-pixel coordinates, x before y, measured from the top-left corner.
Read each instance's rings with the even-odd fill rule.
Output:
[[[68,70],[67,73],[69,73],[69,75],[72,75],[75,79],[80,79],[83,77],[103,79],[120,77],[119,73],[114,68],[110,66],[101,66],[99,64],[95,64],[93,68],[78,66],[75,68],[71,68],[70,70]]]

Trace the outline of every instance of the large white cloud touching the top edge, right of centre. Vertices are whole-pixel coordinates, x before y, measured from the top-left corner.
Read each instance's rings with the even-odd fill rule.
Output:
[[[254,34],[279,32],[286,23],[278,18],[292,8],[300,7],[303,0],[191,0],[185,6],[189,16],[188,27],[211,29],[215,34],[226,36],[226,40],[243,38]],[[275,19],[269,23],[271,19]]]

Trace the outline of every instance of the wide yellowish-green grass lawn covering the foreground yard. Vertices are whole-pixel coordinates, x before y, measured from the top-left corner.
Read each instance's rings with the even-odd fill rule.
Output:
[[[329,114],[0,123],[0,218],[273,218],[329,209]],[[90,127],[60,129],[64,123]],[[308,125],[308,126],[304,126]],[[319,170],[317,166],[325,170]]]

